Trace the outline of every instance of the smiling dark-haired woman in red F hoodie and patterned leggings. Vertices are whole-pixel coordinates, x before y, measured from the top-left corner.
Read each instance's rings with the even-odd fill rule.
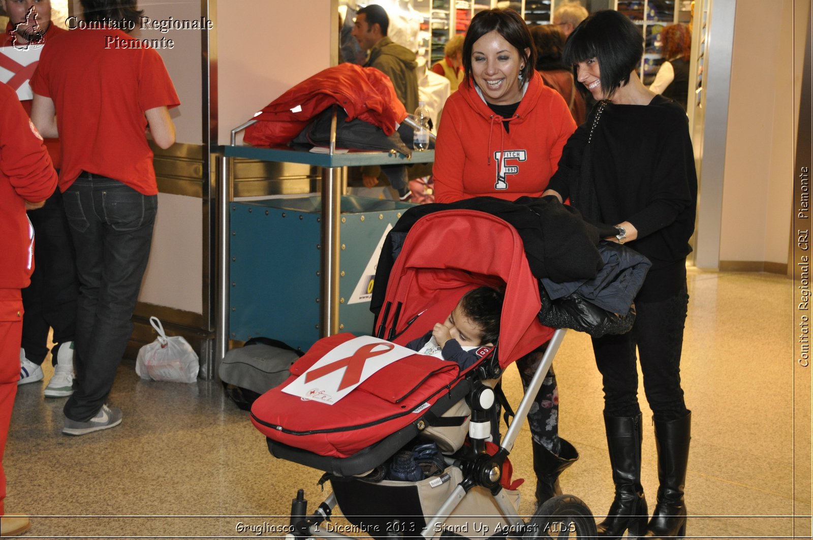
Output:
[[[437,202],[482,195],[513,201],[545,191],[576,123],[562,96],[542,83],[535,63],[531,33],[516,11],[480,11],[472,18],[463,42],[466,78],[446,101],[437,133]],[[543,352],[517,361],[526,388]],[[561,493],[559,473],[579,455],[559,438],[553,369],[535,402],[528,423],[541,504]]]

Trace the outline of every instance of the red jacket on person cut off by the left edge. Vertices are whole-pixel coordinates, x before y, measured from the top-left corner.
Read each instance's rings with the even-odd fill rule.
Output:
[[[17,94],[0,83],[0,289],[28,286],[34,233],[25,201],[41,202],[56,189],[56,171]]]

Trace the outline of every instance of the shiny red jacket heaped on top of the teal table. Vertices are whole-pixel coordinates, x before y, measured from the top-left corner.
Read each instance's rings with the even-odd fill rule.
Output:
[[[387,135],[406,118],[392,82],[376,68],[341,63],[293,86],[269,103],[246,128],[243,140],[252,146],[283,146],[320,112],[337,104],[347,112],[347,121],[359,118],[376,125]]]

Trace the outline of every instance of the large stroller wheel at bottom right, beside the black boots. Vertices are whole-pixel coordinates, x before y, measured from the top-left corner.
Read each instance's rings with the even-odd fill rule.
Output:
[[[593,512],[574,495],[546,500],[531,516],[523,538],[595,538]]]

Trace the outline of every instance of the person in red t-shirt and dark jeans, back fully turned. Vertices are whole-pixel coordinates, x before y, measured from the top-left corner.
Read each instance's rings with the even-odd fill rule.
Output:
[[[137,26],[135,0],[80,0],[93,28],[56,37],[41,54],[32,88],[34,124],[59,135],[59,189],[76,247],[76,383],[63,433],[84,435],[119,425],[107,405],[133,332],[141,278],[150,256],[158,185],[146,129],[161,148],[175,142],[168,109],[180,104],[154,49],[117,29]]]

